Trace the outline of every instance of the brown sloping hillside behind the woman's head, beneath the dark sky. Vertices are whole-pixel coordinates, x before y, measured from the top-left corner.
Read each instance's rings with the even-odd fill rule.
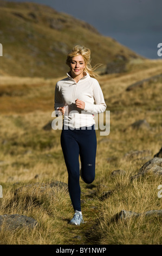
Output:
[[[1,76],[63,76],[68,71],[67,53],[76,44],[92,50],[92,65],[144,59],[85,21],[47,5],[0,0],[0,21]]]

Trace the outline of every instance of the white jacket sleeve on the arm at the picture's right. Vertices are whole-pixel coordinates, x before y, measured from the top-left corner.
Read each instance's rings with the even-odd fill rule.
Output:
[[[95,82],[93,84],[93,97],[95,100],[95,104],[85,102],[85,109],[86,111],[93,113],[93,114],[99,114],[102,112],[105,112],[106,110],[106,103],[103,97],[103,93],[100,87],[99,82],[95,79]]]

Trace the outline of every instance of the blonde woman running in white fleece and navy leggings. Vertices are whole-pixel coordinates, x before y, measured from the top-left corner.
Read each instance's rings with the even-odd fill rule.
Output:
[[[70,224],[83,223],[80,175],[87,184],[95,178],[96,133],[94,114],[106,110],[99,82],[90,65],[90,50],[76,45],[68,54],[67,77],[56,83],[55,111],[63,115],[61,147],[68,171],[68,190],[74,208]],[[95,104],[94,104],[95,101]],[[81,170],[79,166],[79,156]]]

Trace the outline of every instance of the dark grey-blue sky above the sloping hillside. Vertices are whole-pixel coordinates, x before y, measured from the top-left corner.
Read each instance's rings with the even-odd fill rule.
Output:
[[[93,25],[140,55],[157,59],[162,42],[161,0],[33,0]]]

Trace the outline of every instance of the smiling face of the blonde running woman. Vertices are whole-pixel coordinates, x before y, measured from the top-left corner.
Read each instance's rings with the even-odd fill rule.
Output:
[[[83,74],[83,69],[85,68],[85,60],[81,55],[77,55],[72,58],[70,62],[70,71],[72,77],[80,76]]]

